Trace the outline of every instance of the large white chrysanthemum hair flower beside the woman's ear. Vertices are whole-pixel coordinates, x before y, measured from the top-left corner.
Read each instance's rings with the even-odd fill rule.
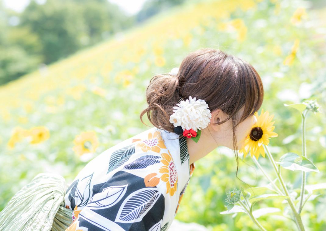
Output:
[[[174,127],[181,126],[183,130],[204,129],[208,126],[212,114],[208,109],[205,100],[196,100],[196,97],[189,97],[189,100],[182,100],[173,107],[173,114],[170,115],[170,122]]]

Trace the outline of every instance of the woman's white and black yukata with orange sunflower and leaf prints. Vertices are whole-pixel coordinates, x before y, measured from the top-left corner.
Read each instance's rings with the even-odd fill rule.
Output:
[[[168,230],[195,169],[186,139],[153,127],[88,162],[65,195],[67,230]]]

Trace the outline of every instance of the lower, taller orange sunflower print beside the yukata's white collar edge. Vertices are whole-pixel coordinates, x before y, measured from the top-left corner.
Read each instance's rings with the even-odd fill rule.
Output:
[[[177,191],[178,175],[170,151],[168,150],[168,152],[169,154],[161,154],[163,157],[163,159],[161,160],[163,166],[160,167],[159,172],[163,173],[161,176],[161,180],[166,182],[166,193],[170,193],[170,196],[173,196],[174,193]]]

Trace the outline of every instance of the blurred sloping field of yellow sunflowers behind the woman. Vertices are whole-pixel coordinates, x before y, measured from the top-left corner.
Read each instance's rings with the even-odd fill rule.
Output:
[[[306,118],[305,139],[307,156],[320,172],[308,172],[306,179],[326,182],[326,23],[320,19],[325,13],[299,0],[187,1],[1,86],[0,210],[38,173],[60,174],[70,184],[96,155],[148,129],[139,115],[147,106],[150,78],[203,47],[234,54],[259,72],[262,108],[274,115],[278,134],[268,145],[275,160],[301,152],[300,114],[284,103],[319,102],[320,113]],[[266,158],[259,162],[271,168]],[[239,154],[237,176],[236,169],[233,151],[224,147],[197,161],[175,219],[210,230],[258,230],[245,214],[220,214],[228,190],[267,183],[250,155]],[[284,181],[297,188],[301,174],[289,171]],[[264,203],[286,206],[281,200]],[[310,230],[326,230],[325,189],[307,201],[301,216]],[[267,230],[295,228],[277,214],[261,216],[259,223]]]

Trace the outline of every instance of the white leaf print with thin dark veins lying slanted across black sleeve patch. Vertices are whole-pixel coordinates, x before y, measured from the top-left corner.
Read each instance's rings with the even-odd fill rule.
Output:
[[[96,193],[87,204],[91,209],[109,208],[118,203],[126,194],[128,185],[110,186]]]

